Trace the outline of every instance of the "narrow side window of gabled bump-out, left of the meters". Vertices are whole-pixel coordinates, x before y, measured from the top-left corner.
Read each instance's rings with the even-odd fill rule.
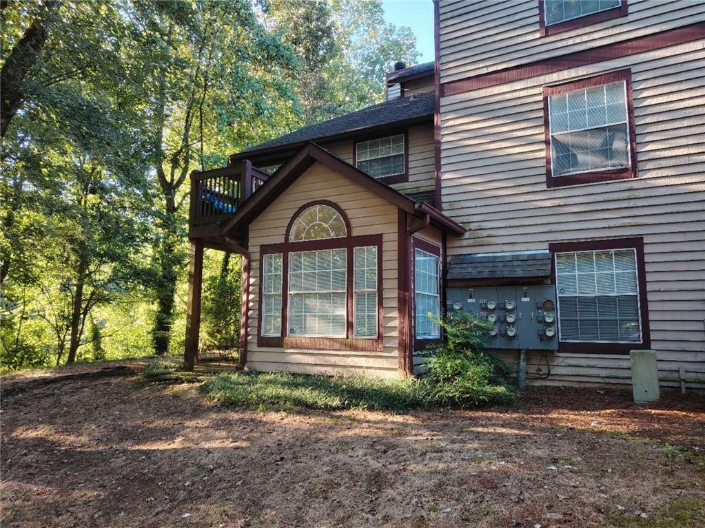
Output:
[[[429,319],[437,318],[441,313],[441,274],[440,259],[422,249],[414,251],[415,264],[415,306],[417,339],[437,339],[441,337],[441,328]]]

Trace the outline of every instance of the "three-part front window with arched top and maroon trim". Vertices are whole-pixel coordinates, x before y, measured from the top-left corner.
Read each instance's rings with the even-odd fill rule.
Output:
[[[259,346],[381,350],[381,235],[353,237],[334,203],[309,203],[283,244],[261,246]]]

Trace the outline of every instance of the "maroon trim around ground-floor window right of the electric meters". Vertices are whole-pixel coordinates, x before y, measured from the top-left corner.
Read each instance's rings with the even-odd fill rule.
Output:
[[[651,348],[649,332],[649,300],[646,296],[646,267],[644,265],[644,239],[642,237],[628,239],[590,240],[579,242],[558,242],[548,244],[551,251],[551,283],[556,284],[556,253],[570,251],[600,251],[608,249],[634,248],[637,253],[637,284],[639,285],[639,318],[642,324],[642,341],[640,343],[604,343],[581,341],[558,341],[558,351],[581,354],[629,354],[630,350]],[[560,313],[558,313],[560,318]],[[559,337],[560,339],[560,337]]]

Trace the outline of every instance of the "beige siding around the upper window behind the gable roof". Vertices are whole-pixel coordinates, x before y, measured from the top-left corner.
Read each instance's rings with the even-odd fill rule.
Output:
[[[391,135],[391,134],[390,134]],[[379,133],[372,134],[379,137]],[[409,139],[409,181],[392,184],[390,187],[407,193],[433,191],[434,182],[434,126],[432,123],[412,125],[408,129]],[[360,138],[364,141],[364,137]],[[353,140],[346,139],[323,145],[343,158],[348,163],[353,163]]]

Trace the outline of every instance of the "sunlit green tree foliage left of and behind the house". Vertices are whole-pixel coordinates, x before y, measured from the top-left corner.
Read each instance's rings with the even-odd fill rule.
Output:
[[[47,29],[0,158],[2,368],[181,353],[190,171],[379,101],[415,42],[381,0],[49,4],[0,27],[2,64]],[[238,344],[226,260],[207,255],[206,348]]]

